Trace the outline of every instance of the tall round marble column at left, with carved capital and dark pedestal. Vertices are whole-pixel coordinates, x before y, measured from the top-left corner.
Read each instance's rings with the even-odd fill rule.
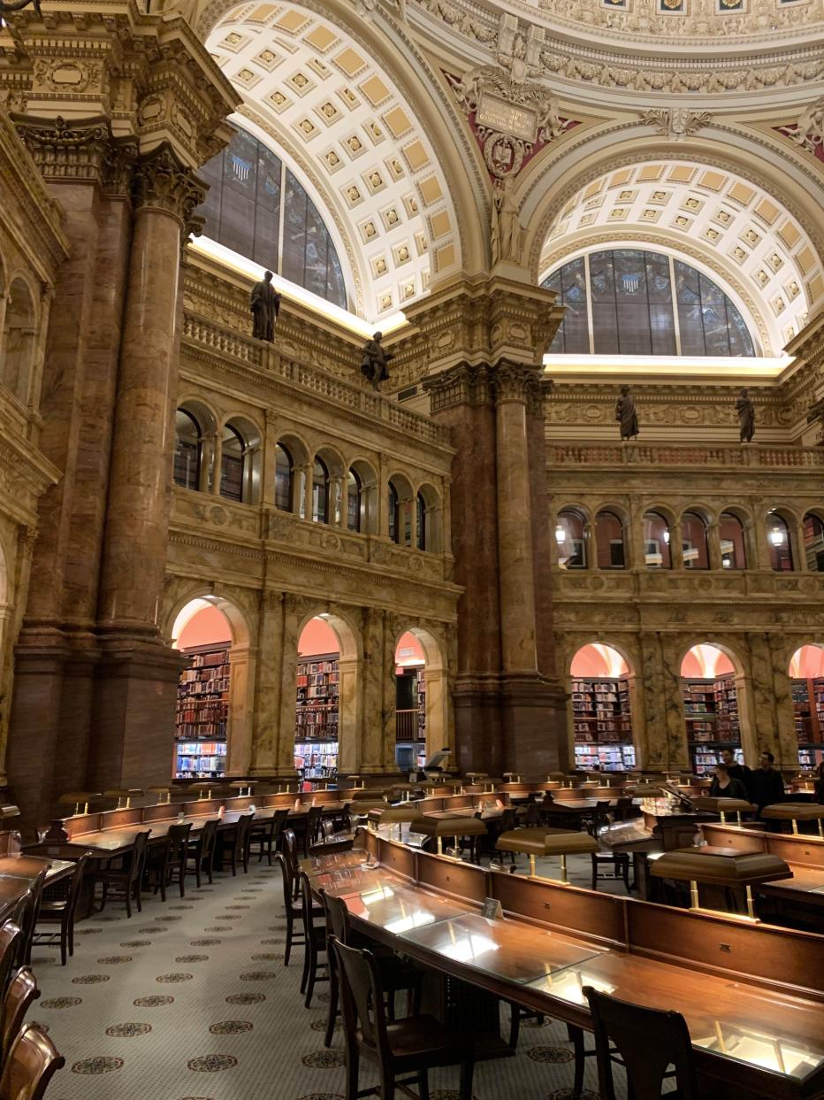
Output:
[[[99,596],[96,782],[168,778],[180,654],[158,623],[171,499],[178,275],[183,226],[203,187],[168,146],[134,169],[118,403]],[[119,730],[118,737],[111,730]]]

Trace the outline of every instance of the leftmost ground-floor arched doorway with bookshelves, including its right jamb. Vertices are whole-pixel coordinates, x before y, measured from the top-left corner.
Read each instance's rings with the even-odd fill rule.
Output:
[[[190,600],[171,628],[189,658],[178,681],[176,779],[221,779],[248,769],[250,712],[248,629],[234,604],[218,596]]]

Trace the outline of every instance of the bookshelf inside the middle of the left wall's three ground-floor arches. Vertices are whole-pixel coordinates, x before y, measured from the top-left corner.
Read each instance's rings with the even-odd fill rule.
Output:
[[[298,660],[294,767],[302,780],[337,777],[337,653]]]

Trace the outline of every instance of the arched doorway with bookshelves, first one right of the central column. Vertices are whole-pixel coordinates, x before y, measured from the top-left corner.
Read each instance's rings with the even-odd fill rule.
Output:
[[[635,743],[626,661],[612,646],[591,642],[575,654],[569,672],[576,768],[632,770]]]

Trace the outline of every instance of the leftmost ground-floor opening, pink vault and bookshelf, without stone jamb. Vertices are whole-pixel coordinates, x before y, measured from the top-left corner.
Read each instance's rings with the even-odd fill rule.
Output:
[[[177,615],[172,646],[189,658],[180,673],[175,714],[175,779],[222,779],[232,718],[232,624],[212,597],[190,601]]]

